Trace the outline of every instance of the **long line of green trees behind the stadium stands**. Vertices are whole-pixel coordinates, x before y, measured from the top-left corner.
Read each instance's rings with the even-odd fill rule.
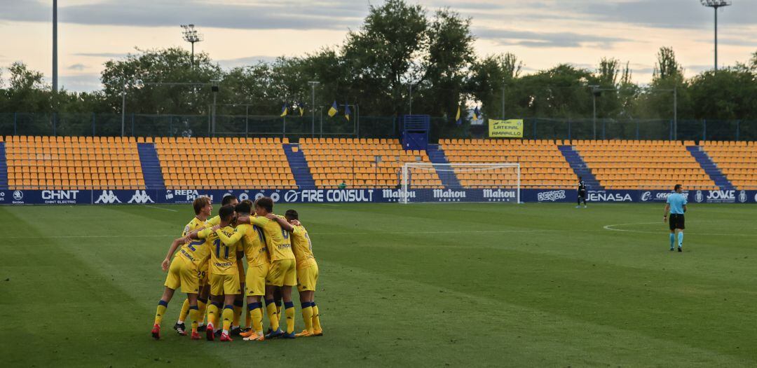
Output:
[[[358,104],[364,116],[407,114],[412,99],[413,113],[450,120],[458,106],[473,105],[484,117],[578,119],[592,116],[596,97],[600,118],[670,119],[675,90],[680,119],[757,120],[757,52],[685,78],[674,51],[662,47],[652,82],[640,85],[616,58],[593,70],[559,64],[525,75],[516,55],[475,55],[470,28],[470,18],[449,8],[387,0],[371,5],[362,26],[335,47],[230,70],[206,53],[192,63],[181,48],[137,49],[104,64],[95,92],[53,93],[42,73],[17,62],[0,70],[0,113],[118,114],[125,93],[129,112],[209,114],[212,81],[220,80],[218,104],[251,104],[257,115],[279,114],[284,104],[309,114],[308,82],[317,81],[316,108]]]

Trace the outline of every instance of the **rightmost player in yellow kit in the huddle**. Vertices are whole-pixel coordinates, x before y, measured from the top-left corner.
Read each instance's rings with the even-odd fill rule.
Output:
[[[318,264],[316,264],[316,257],[313,256],[313,242],[310,241],[310,235],[307,235],[305,226],[300,223],[300,214],[297,211],[287,210],[285,217],[294,226],[294,231],[291,232],[291,250],[294,252],[294,259],[297,260],[297,288],[300,292],[302,319],[305,322],[304,331],[296,336],[322,336],[318,307],[314,301]]]

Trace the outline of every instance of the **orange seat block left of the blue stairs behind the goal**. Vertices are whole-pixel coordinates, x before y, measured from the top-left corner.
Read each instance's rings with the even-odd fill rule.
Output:
[[[304,138],[300,148],[319,188],[397,188],[407,162],[430,163],[425,151],[405,151],[398,139]],[[381,161],[376,163],[376,156]],[[435,172],[413,176],[411,188],[444,188]]]

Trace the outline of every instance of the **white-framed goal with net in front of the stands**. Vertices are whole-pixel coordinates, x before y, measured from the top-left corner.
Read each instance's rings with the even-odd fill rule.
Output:
[[[399,202],[519,203],[520,189],[520,164],[407,163]]]

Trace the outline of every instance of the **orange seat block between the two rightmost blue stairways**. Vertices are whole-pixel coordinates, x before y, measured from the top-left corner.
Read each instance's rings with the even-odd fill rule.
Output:
[[[668,190],[675,183],[687,189],[718,189],[686,150],[693,142],[578,140],[572,144],[606,189]]]

